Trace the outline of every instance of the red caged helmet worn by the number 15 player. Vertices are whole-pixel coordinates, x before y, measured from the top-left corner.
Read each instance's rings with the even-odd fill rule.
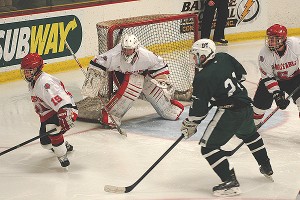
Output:
[[[39,54],[29,53],[21,61],[21,76],[27,82],[32,82],[41,73],[43,66],[44,61]]]

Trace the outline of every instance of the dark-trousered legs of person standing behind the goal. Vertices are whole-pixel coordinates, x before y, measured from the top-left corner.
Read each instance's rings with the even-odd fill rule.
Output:
[[[201,38],[209,38],[215,12],[217,10],[216,27],[213,35],[213,41],[217,45],[227,45],[224,29],[229,16],[228,0],[207,0],[203,12],[201,25]]]

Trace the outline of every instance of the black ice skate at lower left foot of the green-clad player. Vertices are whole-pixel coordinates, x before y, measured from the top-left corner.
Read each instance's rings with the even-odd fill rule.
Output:
[[[241,194],[240,184],[235,177],[234,170],[231,170],[232,174],[230,179],[223,183],[213,187],[213,195],[218,197],[230,197]]]

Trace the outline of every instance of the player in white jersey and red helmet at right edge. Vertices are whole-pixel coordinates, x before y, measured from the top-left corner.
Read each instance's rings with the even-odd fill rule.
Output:
[[[286,27],[280,24],[267,29],[266,46],[258,56],[261,80],[253,99],[256,124],[261,122],[273,100],[282,110],[289,105],[285,93],[291,94],[300,85],[299,57],[300,39],[287,37]],[[292,95],[292,99],[300,118],[300,90]]]

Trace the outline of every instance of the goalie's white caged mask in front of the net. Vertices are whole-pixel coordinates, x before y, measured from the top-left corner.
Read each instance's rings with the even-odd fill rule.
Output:
[[[126,34],[122,41],[122,56],[127,63],[133,64],[137,59],[140,42],[133,34]]]

